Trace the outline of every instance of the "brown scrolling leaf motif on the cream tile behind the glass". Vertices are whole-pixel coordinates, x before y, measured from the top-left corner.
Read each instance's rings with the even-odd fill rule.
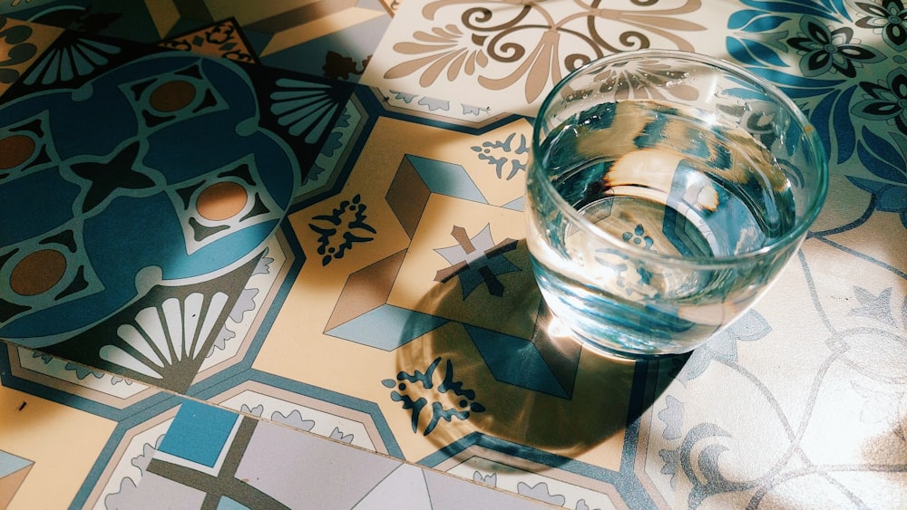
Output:
[[[648,48],[654,40],[692,50],[682,34],[706,30],[678,18],[696,12],[700,0],[679,6],[675,2],[671,7],[658,0],[630,4],[613,8],[598,2],[431,2],[422,10],[424,19],[434,24],[431,31],[415,31],[409,41],[396,43],[394,51],[406,60],[388,69],[384,77],[418,75],[423,87],[440,80],[475,81],[492,91],[523,82],[525,101],[532,103],[550,83],[560,82],[565,71],[595,58]]]

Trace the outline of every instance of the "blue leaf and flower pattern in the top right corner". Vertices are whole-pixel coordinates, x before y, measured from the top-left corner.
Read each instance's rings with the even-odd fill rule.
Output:
[[[873,210],[896,213],[907,227],[902,0],[741,2],[746,10],[727,21],[734,31],[727,52],[790,96],[819,132],[830,163],[847,168],[853,187],[873,195],[871,209],[852,212],[837,231],[862,225]],[[848,164],[852,159],[866,171]]]

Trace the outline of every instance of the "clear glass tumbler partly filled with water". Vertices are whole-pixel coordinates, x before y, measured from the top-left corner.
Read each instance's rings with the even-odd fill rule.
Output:
[[[827,186],[819,137],[772,84],[696,53],[611,55],[560,82],[535,119],[534,274],[583,342],[691,351],[766,293]]]

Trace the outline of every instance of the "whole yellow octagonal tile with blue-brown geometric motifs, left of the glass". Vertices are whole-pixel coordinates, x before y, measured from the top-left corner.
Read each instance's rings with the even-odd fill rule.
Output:
[[[253,370],[376,402],[406,459],[512,441],[618,479],[627,401],[587,404],[634,367],[543,331],[517,241],[529,123],[433,127],[372,91],[354,100],[359,159],[344,188],[290,215],[307,257]]]

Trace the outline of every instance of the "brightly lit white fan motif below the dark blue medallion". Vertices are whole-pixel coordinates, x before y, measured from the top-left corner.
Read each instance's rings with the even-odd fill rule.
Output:
[[[133,322],[117,328],[117,336],[132,349],[104,345],[99,354],[126,369],[163,379],[167,368],[204,355],[203,346],[214,331],[229,297],[215,293],[206,302],[202,293],[191,293],[181,303],[171,297],[160,306],[135,314]]]

